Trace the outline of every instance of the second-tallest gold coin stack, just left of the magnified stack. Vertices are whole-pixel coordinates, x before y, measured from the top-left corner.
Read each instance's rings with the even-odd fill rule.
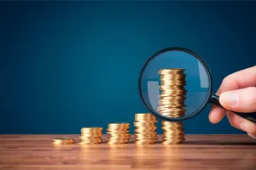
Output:
[[[156,118],[150,113],[135,114],[135,143],[136,144],[154,144],[157,141]]]

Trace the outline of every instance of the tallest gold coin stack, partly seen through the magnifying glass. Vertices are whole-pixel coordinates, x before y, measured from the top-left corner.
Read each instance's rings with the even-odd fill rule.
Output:
[[[184,69],[161,69],[160,101],[158,111],[162,116],[181,117],[185,115],[187,91]],[[162,121],[163,144],[181,144],[184,139],[183,122]]]

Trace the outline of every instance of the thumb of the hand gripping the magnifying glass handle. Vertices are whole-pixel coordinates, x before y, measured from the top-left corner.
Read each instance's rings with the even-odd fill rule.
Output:
[[[220,105],[225,109],[236,112],[256,111],[256,87],[242,88],[224,92],[219,96]]]

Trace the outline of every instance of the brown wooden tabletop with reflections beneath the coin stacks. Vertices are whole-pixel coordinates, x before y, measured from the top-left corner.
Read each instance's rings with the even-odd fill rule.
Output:
[[[0,169],[256,169],[247,135],[186,135],[184,144],[55,145],[79,135],[0,135]],[[107,136],[104,135],[104,141]]]

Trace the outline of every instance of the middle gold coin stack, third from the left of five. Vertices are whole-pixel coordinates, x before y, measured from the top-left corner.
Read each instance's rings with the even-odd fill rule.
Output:
[[[126,144],[130,139],[130,123],[109,123],[107,133],[108,144]]]

